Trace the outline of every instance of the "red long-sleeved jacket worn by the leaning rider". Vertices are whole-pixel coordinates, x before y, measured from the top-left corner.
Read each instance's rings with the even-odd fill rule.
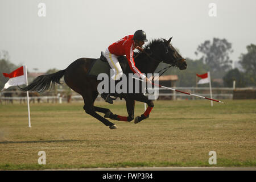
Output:
[[[133,59],[133,50],[134,47],[134,40],[133,35],[125,36],[124,38],[118,40],[117,42],[111,44],[109,46],[109,52],[117,55],[122,56],[126,55],[126,58],[128,60],[129,66],[131,68],[131,71],[134,73],[138,73],[139,77],[146,77],[144,76],[137,67],[135,67],[134,59]]]

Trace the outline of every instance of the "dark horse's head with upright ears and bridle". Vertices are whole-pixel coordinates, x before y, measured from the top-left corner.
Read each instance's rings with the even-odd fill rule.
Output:
[[[162,59],[164,63],[175,65],[180,69],[186,69],[187,63],[185,59],[180,56],[176,49],[170,44],[172,37],[169,40],[163,39],[164,45],[162,50]]]

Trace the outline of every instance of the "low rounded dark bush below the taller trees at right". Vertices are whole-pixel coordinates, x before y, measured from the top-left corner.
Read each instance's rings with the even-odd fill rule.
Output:
[[[224,86],[233,87],[234,80],[236,81],[236,87],[245,87],[246,86],[243,74],[237,68],[231,69],[223,77]]]

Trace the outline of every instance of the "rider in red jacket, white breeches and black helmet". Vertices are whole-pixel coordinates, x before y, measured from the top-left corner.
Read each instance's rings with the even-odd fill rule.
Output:
[[[131,71],[137,73],[144,81],[150,82],[150,80],[144,76],[137,67],[135,67],[133,50],[138,49],[143,51],[143,44],[147,42],[146,33],[143,30],[135,31],[134,35],[128,35],[111,44],[105,51],[106,59],[109,62],[110,67],[114,70],[113,80],[119,80],[122,75],[122,68],[118,62],[117,57],[126,55]],[[104,98],[109,104],[113,104],[112,98],[109,93],[102,93],[101,97]]]

